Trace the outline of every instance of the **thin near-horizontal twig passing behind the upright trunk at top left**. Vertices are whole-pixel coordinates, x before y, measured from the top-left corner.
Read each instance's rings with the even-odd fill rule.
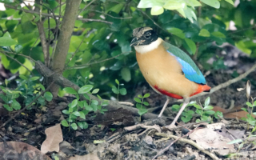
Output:
[[[24,11],[24,12],[30,13],[30,14],[40,14],[39,12],[34,11],[34,10],[22,10],[22,9],[18,9],[18,7],[16,7],[16,6],[10,6],[8,4],[5,4],[5,6],[7,8],[11,8],[11,9],[14,9],[14,10],[21,10],[21,11]],[[54,18],[53,14],[42,13],[42,16]],[[55,17],[56,18],[63,18],[62,15],[55,15]],[[104,23],[110,24],[110,25],[113,24],[113,22],[108,22],[108,21],[104,21],[104,20],[101,20],[101,19],[77,18],[77,20],[82,21],[82,22],[104,22]]]

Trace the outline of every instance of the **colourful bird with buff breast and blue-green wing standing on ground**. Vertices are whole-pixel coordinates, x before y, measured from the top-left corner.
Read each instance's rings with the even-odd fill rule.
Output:
[[[148,26],[135,28],[130,46],[136,50],[136,59],[146,82],[158,94],[166,95],[166,102],[158,118],[170,102],[170,98],[183,99],[183,104],[174,121],[166,126],[174,128],[190,97],[210,91],[206,78],[188,54],[165,42]]]

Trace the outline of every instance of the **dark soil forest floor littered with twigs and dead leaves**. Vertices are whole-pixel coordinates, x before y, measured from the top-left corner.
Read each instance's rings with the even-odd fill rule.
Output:
[[[238,50],[228,47],[226,50],[228,54],[219,54],[222,54],[228,67],[206,75],[208,86],[218,86],[234,78],[234,71],[242,74],[254,64]],[[0,160],[148,160],[157,155],[155,159],[159,160],[256,159],[255,138],[249,137],[254,126],[247,127],[246,122],[239,119],[245,116],[244,113],[238,112],[241,107],[247,107],[247,100],[245,90],[238,92],[237,88],[244,88],[248,79],[252,84],[251,95],[255,97],[254,71],[240,82],[195,99],[203,103],[210,96],[210,105],[214,106],[214,110],[222,109],[226,113],[224,118],[214,118],[212,124],[195,123],[195,115],[186,124],[179,120],[174,130],[164,127],[176,115],[170,108],[164,113],[168,117],[166,121],[150,119],[141,122],[139,117],[124,109],[107,111],[96,117],[90,113],[86,116],[88,129],[72,130],[59,125],[63,118],[62,110],[66,109],[72,98],[55,98],[46,107],[32,107],[22,112],[0,129]],[[148,108],[154,114],[159,113],[166,100],[164,96],[154,93],[146,83],[138,86],[134,92],[136,95],[151,94],[146,100],[154,107],[154,110]],[[134,103],[132,98],[126,102]],[[170,102],[169,106],[176,103]],[[0,126],[15,114],[9,113],[1,105],[0,102]],[[194,108],[190,106],[190,110]],[[242,139],[242,143],[227,144],[234,139]],[[46,150],[50,151],[44,154]]]

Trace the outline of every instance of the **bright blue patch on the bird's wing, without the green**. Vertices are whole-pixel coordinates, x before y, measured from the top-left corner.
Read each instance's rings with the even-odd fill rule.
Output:
[[[170,51],[168,52],[170,53]],[[187,79],[196,83],[206,84],[206,78],[202,75],[201,71],[199,74],[197,74],[197,72],[194,70],[192,66],[190,66],[188,62],[182,60],[182,58],[179,58],[172,53],[170,54],[177,58],[178,62],[182,65],[182,71]]]

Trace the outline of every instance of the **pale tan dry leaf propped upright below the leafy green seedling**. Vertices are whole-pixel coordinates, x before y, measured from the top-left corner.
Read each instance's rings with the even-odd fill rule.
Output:
[[[59,151],[59,143],[63,141],[61,125],[57,124],[46,129],[46,140],[42,142],[41,151],[47,152]]]

